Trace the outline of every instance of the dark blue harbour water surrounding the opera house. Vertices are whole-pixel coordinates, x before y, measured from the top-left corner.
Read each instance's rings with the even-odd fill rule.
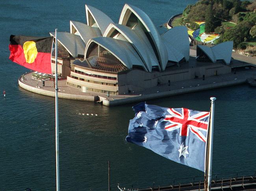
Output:
[[[132,0],[156,24],[167,22],[195,0]],[[9,35],[47,36],[69,31],[69,20],[86,22],[84,1],[1,1],[0,6],[0,190],[56,190],[54,98],[21,89],[17,79],[29,70],[8,60]],[[124,1],[91,0],[117,22]],[[2,91],[6,90],[4,100]],[[255,170],[256,89],[246,85],[148,101],[164,107],[209,110],[216,96],[213,174]],[[92,102],[59,100],[60,188],[106,190],[108,160],[111,187],[173,184],[173,179],[203,173],[167,160],[125,141],[132,104],[106,107]],[[79,115],[85,113],[85,115]],[[93,113],[98,116],[87,116]],[[233,173],[232,175],[234,175]],[[241,173],[242,175],[242,173]],[[179,180],[176,180],[177,182]],[[182,182],[187,180],[181,180]]]

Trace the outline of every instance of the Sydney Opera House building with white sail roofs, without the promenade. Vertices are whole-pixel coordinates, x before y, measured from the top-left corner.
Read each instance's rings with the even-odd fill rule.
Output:
[[[94,7],[85,5],[85,11],[87,24],[70,21],[70,33],[58,32],[57,36],[58,73],[67,77],[67,85],[83,92],[120,95],[191,79],[195,73],[210,76],[215,71],[231,71],[227,66],[231,60],[230,43],[222,45],[226,54],[218,58],[212,49],[198,47],[199,59],[224,60],[221,66],[214,69],[202,65],[188,70],[179,67],[189,61],[186,27],[174,27],[160,35],[146,13],[128,4],[118,24]],[[52,55],[54,73],[54,50]]]

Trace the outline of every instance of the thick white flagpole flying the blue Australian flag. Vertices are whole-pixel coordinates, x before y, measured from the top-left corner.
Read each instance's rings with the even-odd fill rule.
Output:
[[[212,163],[212,144],[213,144],[213,120],[214,120],[214,102],[215,97],[211,97],[211,116],[210,116],[210,129],[209,129],[209,157],[208,157],[208,185],[207,191],[211,191],[211,163]]]

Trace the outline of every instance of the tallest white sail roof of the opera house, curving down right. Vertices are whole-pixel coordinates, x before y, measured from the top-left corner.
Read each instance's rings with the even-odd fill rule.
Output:
[[[124,8],[122,9],[122,13],[119,19],[119,24],[126,25],[128,22],[128,19],[130,18],[131,13],[134,13],[134,15],[143,24],[148,34],[151,36],[152,41],[154,42],[154,45],[156,47],[158,57],[160,59],[161,68],[162,70],[165,70],[165,67],[168,62],[167,51],[165,49],[165,45],[163,44],[161,36],[159,35],[155,25],[153,24],[149,16],[138,7],[125,4]]]

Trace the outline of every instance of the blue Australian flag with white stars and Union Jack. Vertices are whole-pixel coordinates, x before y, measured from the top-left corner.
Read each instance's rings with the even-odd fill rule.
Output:
[[[127,142],[146,147],[175,162],[205,171],[210,112],[145,103],[133,107]]]

